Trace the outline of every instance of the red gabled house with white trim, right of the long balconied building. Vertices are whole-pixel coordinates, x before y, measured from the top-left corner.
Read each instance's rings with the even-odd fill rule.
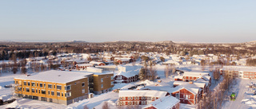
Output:
[[[201,88],[190,88],[186,85],[179,85],[169,92],[179,99],[181,103],[196,104],[202,98]]]

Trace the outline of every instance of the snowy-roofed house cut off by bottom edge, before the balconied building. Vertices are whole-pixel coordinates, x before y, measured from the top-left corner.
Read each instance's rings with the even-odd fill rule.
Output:
[[[174,96],[167,95],[165,97],[156,99],[154,102],[148,104],[142,109],[179,109],[180,100]]]

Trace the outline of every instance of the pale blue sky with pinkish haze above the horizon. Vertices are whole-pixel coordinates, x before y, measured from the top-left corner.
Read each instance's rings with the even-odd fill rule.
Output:
[[[256,1],[0,0],[0,40],[256,41]]]

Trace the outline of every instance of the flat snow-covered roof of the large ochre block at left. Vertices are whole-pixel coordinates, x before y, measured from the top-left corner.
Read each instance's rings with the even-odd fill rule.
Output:
[[[66,72],[66,71],[50,70],[46,72],[38,72],[30,76],[20,76],[15,79],[38,80],[38,81],[47,81],[47,82],[66,84],[74,80],[80,80],[80,79],[86,78],[86,76],[91,74],[92,73],[89,73],[89,72]]]

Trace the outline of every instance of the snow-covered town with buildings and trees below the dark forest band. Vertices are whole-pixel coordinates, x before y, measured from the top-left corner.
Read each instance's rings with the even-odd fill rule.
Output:
[[[118,51],[2,60],[0,108],[255,108],[247,59]]]

